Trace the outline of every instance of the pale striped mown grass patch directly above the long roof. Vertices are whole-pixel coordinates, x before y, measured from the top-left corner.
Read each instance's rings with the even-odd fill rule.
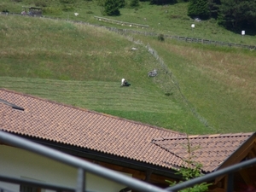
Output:
[[[79,108],[108,113],[175,131],[212,133],[192,113],[162,91],[119,82],[61,81],[1,77],[0,87],[62,102]]]

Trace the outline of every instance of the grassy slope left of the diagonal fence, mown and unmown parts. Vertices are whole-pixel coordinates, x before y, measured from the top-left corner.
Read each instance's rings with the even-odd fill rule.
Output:
[[[157,79],[148,78],[158,63],[143,46],[93,26],[0,19],[1,87],[173,130],[211,131],[178,95],[166,96]],[[122,78],[131,87],[120,88]]]

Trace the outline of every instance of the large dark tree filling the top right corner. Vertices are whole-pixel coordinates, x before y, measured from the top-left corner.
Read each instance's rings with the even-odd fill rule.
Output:
[[[256,0],[221,0],[218,23],[227,29],[256,28]]]

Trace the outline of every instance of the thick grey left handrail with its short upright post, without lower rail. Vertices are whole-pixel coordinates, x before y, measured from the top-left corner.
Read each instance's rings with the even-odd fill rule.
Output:
[[[5,131],[0,131],[0,141],[2,143],[7,143],[17,148],[26,149],[35,154],[43,155],[52,160],[60,161],[69,166],[77,167],[79,169],[78,179],[77,179],[78,183],[77,183],[77,188],[74,189],[77,192],[84,192],[84,171],[96,174],[101,177],[108,178],[117,183],[122,183],[125,186],[128,186],[131,189],[136,189],[138,191],[167,192],[166,189],[161,189],[152,184],[145,183],[135,178],[125,176],[123,174],[114,172],[102,166],[95,165],[88,161],[80,160],[79,158],[74,157],[70,154],[64,154],[61,151],[55,150],[53,148],[45,147],[38,143],[33,143],[25,138],[12,135]]]

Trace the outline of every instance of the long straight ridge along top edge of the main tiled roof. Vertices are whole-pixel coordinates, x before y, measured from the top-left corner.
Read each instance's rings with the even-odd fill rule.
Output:
[[[95,114],[103,115],[105,117],[109,117],[109,118],[113,118],[113,119],[125,120],[127,122],[131,122],[131,123],[134,123],[134,124],[137,124],[137,125],[148,126],[149,128],[152,128],[152,129],[157,129],[157,130],[166,131],[166,132],[172,132],[172,133],[175,133],[175,134],[181,135],[181,136],[184,135],[184,133],[182,133],[182,132],[172,131],[172,130],[169,130],[169,129],[166,129],[166,128],[163,128],[163,127],[158,127],[158,126],[155,126],[155,125],[149,125],[149,124],[145,124],[145,123],[142,123],[142,122],[139,122],[139,121],[134,121],[134,120],[131,120],[131,119],[120,118],[118,116],[113,116],[113,115],[108,114],[108,113],[100,113],[100,112],[96,112],[96,111],[89,110],[89,109],[86,109],[86,108],[74,107],[72,105],[68,105],[68,104],[65,104],[63,102],[55,102],[55,101],[51,101],[49,99],[45,99],[45,98],[42,98],[42,97],[39,97],[39,96],[32,96],[30,94],[21,93],[21,92],[15,91],[15,90],[7,90],[7,89],[4,89],[4,88],[0,88],[0,90],[7,91],[9,93],[15,93],[15,94],[20,95],[20,96],[28,96],[28,97],[31,97],[33,99],[38,99],[40,101],[54,103],[56,105],[64,106],[64,107],[67,107],[67,108],[74,108],[74,109],[78,109],[78,110],[81,110],[81,111],[86,111],[88,113],[95,113]]]

